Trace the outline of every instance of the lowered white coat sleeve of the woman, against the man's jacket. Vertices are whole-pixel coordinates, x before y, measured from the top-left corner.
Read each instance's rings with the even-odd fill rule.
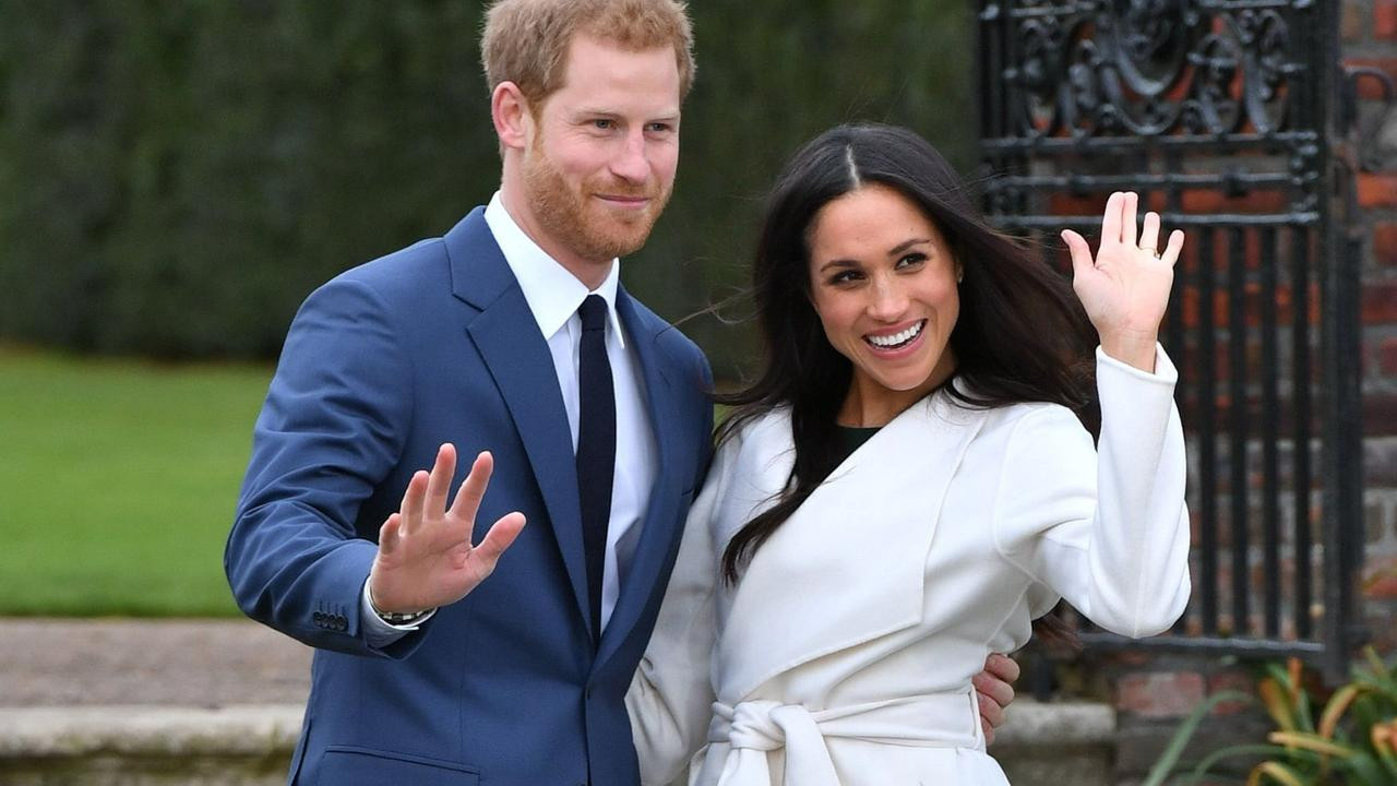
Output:
[[[714,517],[729,487],[736,442],[733,438],[718,450],[703,491],[689,509],[655,631],[626,694],[644,786],[664,786],[682,775],[708,737],[721,559]]]

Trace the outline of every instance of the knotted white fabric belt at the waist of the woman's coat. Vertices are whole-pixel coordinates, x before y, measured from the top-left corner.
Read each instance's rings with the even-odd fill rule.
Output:
[[[819,710],[764,699],[714,702],[712,712],[708,743],[731,747],[719,786],[771,786],[767,752],[781,748],[787,786],[840,786],[827,747],[831,738],[985,750],[974,689]]]

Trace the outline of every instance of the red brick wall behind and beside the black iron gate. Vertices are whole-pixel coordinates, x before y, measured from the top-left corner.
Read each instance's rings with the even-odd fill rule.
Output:
[[[1397,84],[1397,0],[1323,1],[1344,3],[1341,27],[1344,63],[1382,69]],[[1359,95],[1362,122],[1376,122],[1382,116],[1379,91],[1373,84],[1365,84]],[[1356,229],[1363,238],[1359,260],[1362,366],[1354,369],[1354,373],[1361,375],[1363,394],[1362,615],[1373,643],[1380,652],[1391,656],[1397,653],[1397,110],[1387,117],[1377,137],[1377,151],[1382,162],[1379,171],[1361,173],[1356,182],[1361,208]],[[1253,199],[1256,196],[1252,194]],[[1065,213],[1081,213],[1073,210],[1073,206],[1058,207]],[[1249,210],[1264,207],[1246,206]],[[1249,256],[1252,253],[1255,252],[1249,249]],[[1189,292],[1185,291],[1185,295]],[[1284,298],[1284,291],[1281,296]],[[1316,303],[1317,296],[1312,296],[1310,302]],[[1252,306],[1249,301],[1249,312],[1253,310]],[[1289,303],[1281,302],[1278,306],[1284,323],[1289,319],[1285,313]],[[1227,306],[1220,303],[1214,310],[1225,313]],[[1193,316],[1186,319],[1190,327],[1196,323]],[[1252,322],[1250,316],[1246,319]],[[1225,330],[1225,317],[1217,327],[1220,333]],[[1221,364],[1218,379],[1224,386],[1220,390],[1225,390],[1229,372],[1227,352],[1220,351],[1217,357]],[[1190,445],[1192,452],[1196,453],[1196,445]],[[1285,476],[1291,453],[1294,445],[1282,441],[1282,484],[1288,483]],[[1218,469],[1225,473],[1228,462],[1225,446],[1218,462]],[[1315,462],[1317,470],[1317,455]],[[1255,460],[1249,463],[1255,464]],[[1193,457],[1190,470],[1197,470]],[[1190,478],[1190,487],[1196,492],[1196,477]],[[1190,498],[1190,505],[1193,502]],[[1228,501],[1220,499],[1218,508],[1225,517]],[[1284,513],[1289,517],[1288,510]],[[1220,545],[1224,550],[1220,554],[1222,571],[1220,583],[1225,594],[1229,557],[1225,552],[1227,543]],[[1320,601],[1322,596],[1316,596],[1316,600]],[[1224,611],[1224,618],[1225,615]],[[1285,615],[1289,617],[1288,610]],[[1227,688],[1248,689],[1253,684],[1249,666],[1229,659],[1147,656],[1139,652],[1088,653],[1074,666],[1059,670],[1059,678],[1069,694],[1112,696],[1119,713],[1116,780],[1123,785],[1139,782],[1168,743],[1179,719],[1186,716],[1204,695]],[[1263,740],[1267,729],[1270,723],[1255,710],[1245,706],[1222,706],[1210,719],[1199,740],[1210,748],[1227,743],[1257,743]]]

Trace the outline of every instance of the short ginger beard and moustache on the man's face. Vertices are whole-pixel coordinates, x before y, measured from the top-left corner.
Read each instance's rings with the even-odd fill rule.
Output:
[[[669,201],[669,190],[622,182],[594,187],[595,180],[588,180],[583,183],[581,193],[577,193],[539,145],[534,145],[529,158],[532,161],[524,166],[524,190],[541,229],[585,260],[609,262],[640,250]],[[594,206],[588,194],[598,192],[650,197],[650,206],[636,211],[627,221],[619,217],[619,211],[610,213],[601,204]],[[587,215],[588,207],[594,208],[594,217]],[[597,213],[601,217],[595,217]]]

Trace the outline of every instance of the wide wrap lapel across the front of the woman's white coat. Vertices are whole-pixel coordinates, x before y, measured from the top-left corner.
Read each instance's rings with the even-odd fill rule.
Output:
[[[802,663],[915,625],[942,501],[985,413],[919,401],[854,452],[763,544],[728,611],[718,670],[742,701]],[[791,471],[789,424],[760,484]]]

